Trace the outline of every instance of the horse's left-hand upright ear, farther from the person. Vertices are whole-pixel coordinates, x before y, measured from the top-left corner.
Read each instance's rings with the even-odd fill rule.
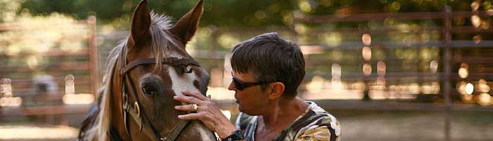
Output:
[[[132,25],[130,26],[130,39],[132,39],[132,43],[148,36],[150,27],[151,14],[149,13],[149,10],[147,10],[147,1],[143,0],[137,5],[134,15],[132,16]]]

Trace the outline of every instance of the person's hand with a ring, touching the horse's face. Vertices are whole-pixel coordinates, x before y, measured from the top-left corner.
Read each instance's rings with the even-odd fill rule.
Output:
[[[178,118],[182,120],[202,121],[209,130],[218,133],[221,138],[227,137],[236,130],[235,125],[223,115],[219,107],[211,99],[196,92],[183,91],[182,94],[185,96],[177,95],[173,98],[189,104],[175,106],[175,109],[180,111],[194,111],[192,104],[198,105],[199,108],[196,110],[196,113],[179,115]]]

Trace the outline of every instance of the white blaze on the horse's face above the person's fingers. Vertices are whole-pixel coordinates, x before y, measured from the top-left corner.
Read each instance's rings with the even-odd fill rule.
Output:
[[[187,67],[187,70],[188,69],[189,67]],[[197,80],[195,73],[183,73],[182,75],[179,75],[173,67],[168,67],[168,73],[170,75],[171,83],[173,84],[171,88],[176,95],[183,95],[182,91],[200,93],[194,86],[194,81]]]

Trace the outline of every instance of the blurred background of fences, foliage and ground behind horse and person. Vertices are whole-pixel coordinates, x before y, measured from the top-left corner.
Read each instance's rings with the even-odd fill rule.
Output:
[[[0,0],[0,140],[74,140],[137,0]],[[196,0],[150,0],[174,19]],[[342,140],[493,140],[492,1],[205,0],[187,51],[232,122],[230,49],[277,32]]]

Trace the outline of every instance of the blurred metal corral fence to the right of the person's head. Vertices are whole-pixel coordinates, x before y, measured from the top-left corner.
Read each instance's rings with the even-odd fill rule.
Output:
[[[342,71],[341,75],[337,63],[344,66],[351,60],[324,63],[337,64],[339,72],[336,73],[332,65],[332,82],[334,78],[362,80],[361,84],[366,86],[362,89],[362,100],[368,102],[319,102],[323,107],[445,111],[444,137],[450,140],[451,110],[493,111],[490,91],[493,80],[493,30],[489,22],[492,15],[492,11],[452,12],[446,6],[442,12],[294,16],[292,28],[301,38],[327,32],[339,32],[344,36],[342,38],[361,37],[359,42],[340,44],[320,44],[298,38],[300,44],[306,44],[311,50],[332,50],[332,53],[354,51],[360,54],[355,57],[353,66],[361,66],[356,67],[360,68],[361,73],[344,74],[346,72]],[[310,30],[304,26],[323,27],[326,23],[356,26],[325,26],[322,30]],[[311,57],[307,60],[321,61]],[[405,98],[408,94],[411,94],[411,99],[403,102],[400,97]],[[371,102],[371,99],[384,101]],[[400,102],[389,102],[389,99]]]

